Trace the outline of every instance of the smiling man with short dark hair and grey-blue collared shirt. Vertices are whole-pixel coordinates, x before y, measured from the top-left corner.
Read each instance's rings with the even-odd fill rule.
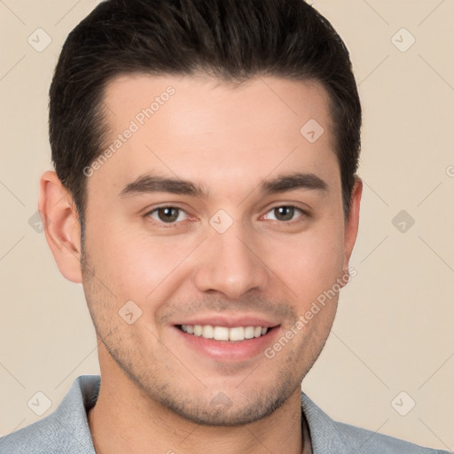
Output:
[[[352,271],[360,126],[348,51],[301,0],[99,4],[51,84],[39,207],[102,380],[0,451],[435,452],[301,395]]]

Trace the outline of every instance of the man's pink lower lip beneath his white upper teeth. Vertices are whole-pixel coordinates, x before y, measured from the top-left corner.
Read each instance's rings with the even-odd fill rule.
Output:
[[[174,326],[181,335],[184,342],[198,353],[222,362],[247,361],[257,355],[263,355],[265,348],[269,347],[278,335],[279,327],[269,329],[268,333],[254,339],[245,340],[214,340],[205,339],[202,336],[195,336],[181,331]]]

